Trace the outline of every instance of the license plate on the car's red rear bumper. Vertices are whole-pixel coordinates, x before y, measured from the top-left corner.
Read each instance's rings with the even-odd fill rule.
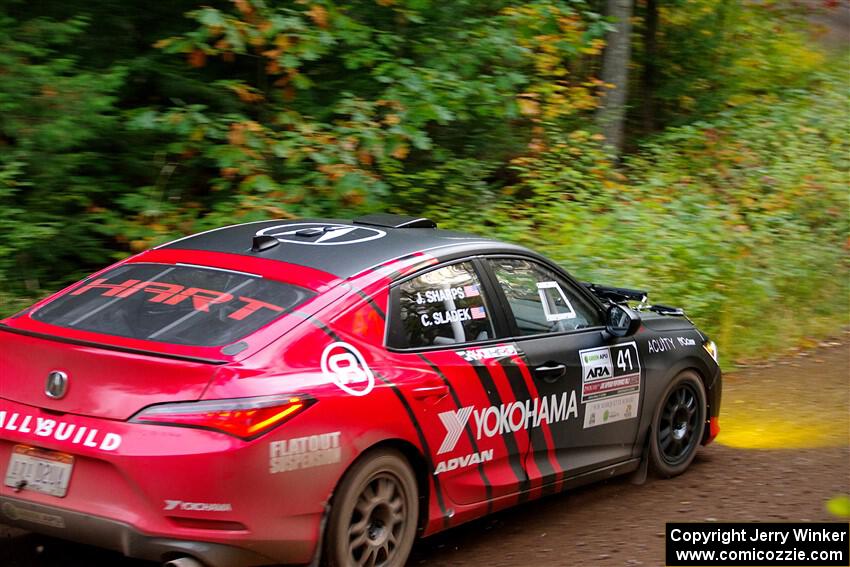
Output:
[[[9,459],[4,484],[62,498],[68,492],[73,469],[72,455],[16,445]]]

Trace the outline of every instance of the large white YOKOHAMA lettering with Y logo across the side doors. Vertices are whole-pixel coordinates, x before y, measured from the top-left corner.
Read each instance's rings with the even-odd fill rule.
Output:
[[[495,437],[507,433],[516,433],[520,429],[540,427],[541,423],[558,423],[570,417],[578,417],[578,402],[575,391],[552,394],[543,398],[532,398],[524,402],[511,402],[484,409],[466,406],[458,410],[444,411],[439,414],[446,437],[437,450],[438,455],[453,451],[460,434],[469,422],[475,418],[475,437]]]

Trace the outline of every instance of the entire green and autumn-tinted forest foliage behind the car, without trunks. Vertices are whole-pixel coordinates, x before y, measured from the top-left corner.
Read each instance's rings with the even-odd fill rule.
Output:
[[[598,3],[9,1],[0,313],[176,235],[388,210],[649,288],[727,361],[847,322],[847,61],[784,4],[659,2],[630,106],[667,128],[618,164]]]

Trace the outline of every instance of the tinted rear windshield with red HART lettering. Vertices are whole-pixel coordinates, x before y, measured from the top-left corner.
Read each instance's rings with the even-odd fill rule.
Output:
[[[125,264],[87,280],[32,317],[106,335],[219,346],[253,333],[314,295],[229,270]]]

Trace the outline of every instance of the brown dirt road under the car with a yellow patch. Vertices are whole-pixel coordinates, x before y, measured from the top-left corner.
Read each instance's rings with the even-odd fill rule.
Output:
[[[616,479],[419,542],[410,566],[663,564],[667,521],[828,521],[850,494],[850,340],[726,377],[723,431],[692,468]],[[154,567],[0,529],[5,567]]]

